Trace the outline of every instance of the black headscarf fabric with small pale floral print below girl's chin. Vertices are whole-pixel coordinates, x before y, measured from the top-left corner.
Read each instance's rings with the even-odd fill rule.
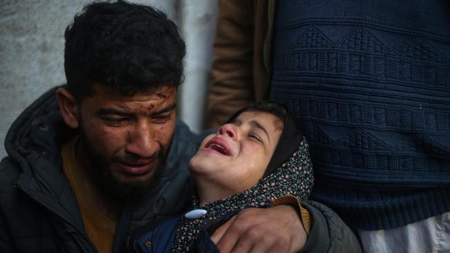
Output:
[[[195,252],[201,229],[229,212],[249,207],[267,207],[276,198],[286,195],[305,200],[309,197],[312,184],[312,163],[308,144],[303,138],[298,149],[286,162],[250,189],[203,207],[199,207],[199,201],[195,197],[191,209],[201,208],[207,213],[200,218],[189,219],[183,216],[180,219],[171,252]]]

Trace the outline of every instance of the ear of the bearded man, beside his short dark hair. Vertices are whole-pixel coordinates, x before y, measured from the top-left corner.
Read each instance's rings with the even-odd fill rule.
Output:
[[[65,88],[58,88],[56,91],[56,99],[60,105],[60,111],[64,122],[72,129],[78,128],[80,123],[78,101],[73,97],[72,93]]]

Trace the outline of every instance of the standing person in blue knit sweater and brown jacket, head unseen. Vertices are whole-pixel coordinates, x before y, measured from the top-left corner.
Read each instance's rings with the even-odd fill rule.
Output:
[[[449,1],[219,1],[212,126],[284,102],[365,252],[449,252]]]

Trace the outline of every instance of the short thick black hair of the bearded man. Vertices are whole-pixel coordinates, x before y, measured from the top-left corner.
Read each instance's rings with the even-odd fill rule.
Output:
[[[64,68],[75,97],[93,83],[133,95],[183,81],[186,46],[161,11],[125,1],[84,6],[64,34]]]

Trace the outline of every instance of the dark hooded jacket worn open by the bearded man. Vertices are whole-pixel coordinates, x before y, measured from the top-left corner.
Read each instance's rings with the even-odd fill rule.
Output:
[[[0,252],[97,252],[84,230],[77,200],[62,170],[61,145],[76,133],[66,127],[56,88],[15,120],[0,164]],[[186,209],[192,196],[188,161],[201,139],[177,120],[165,172],[141,200],[130,199],[118,222],[114,252],[136,227]]]

